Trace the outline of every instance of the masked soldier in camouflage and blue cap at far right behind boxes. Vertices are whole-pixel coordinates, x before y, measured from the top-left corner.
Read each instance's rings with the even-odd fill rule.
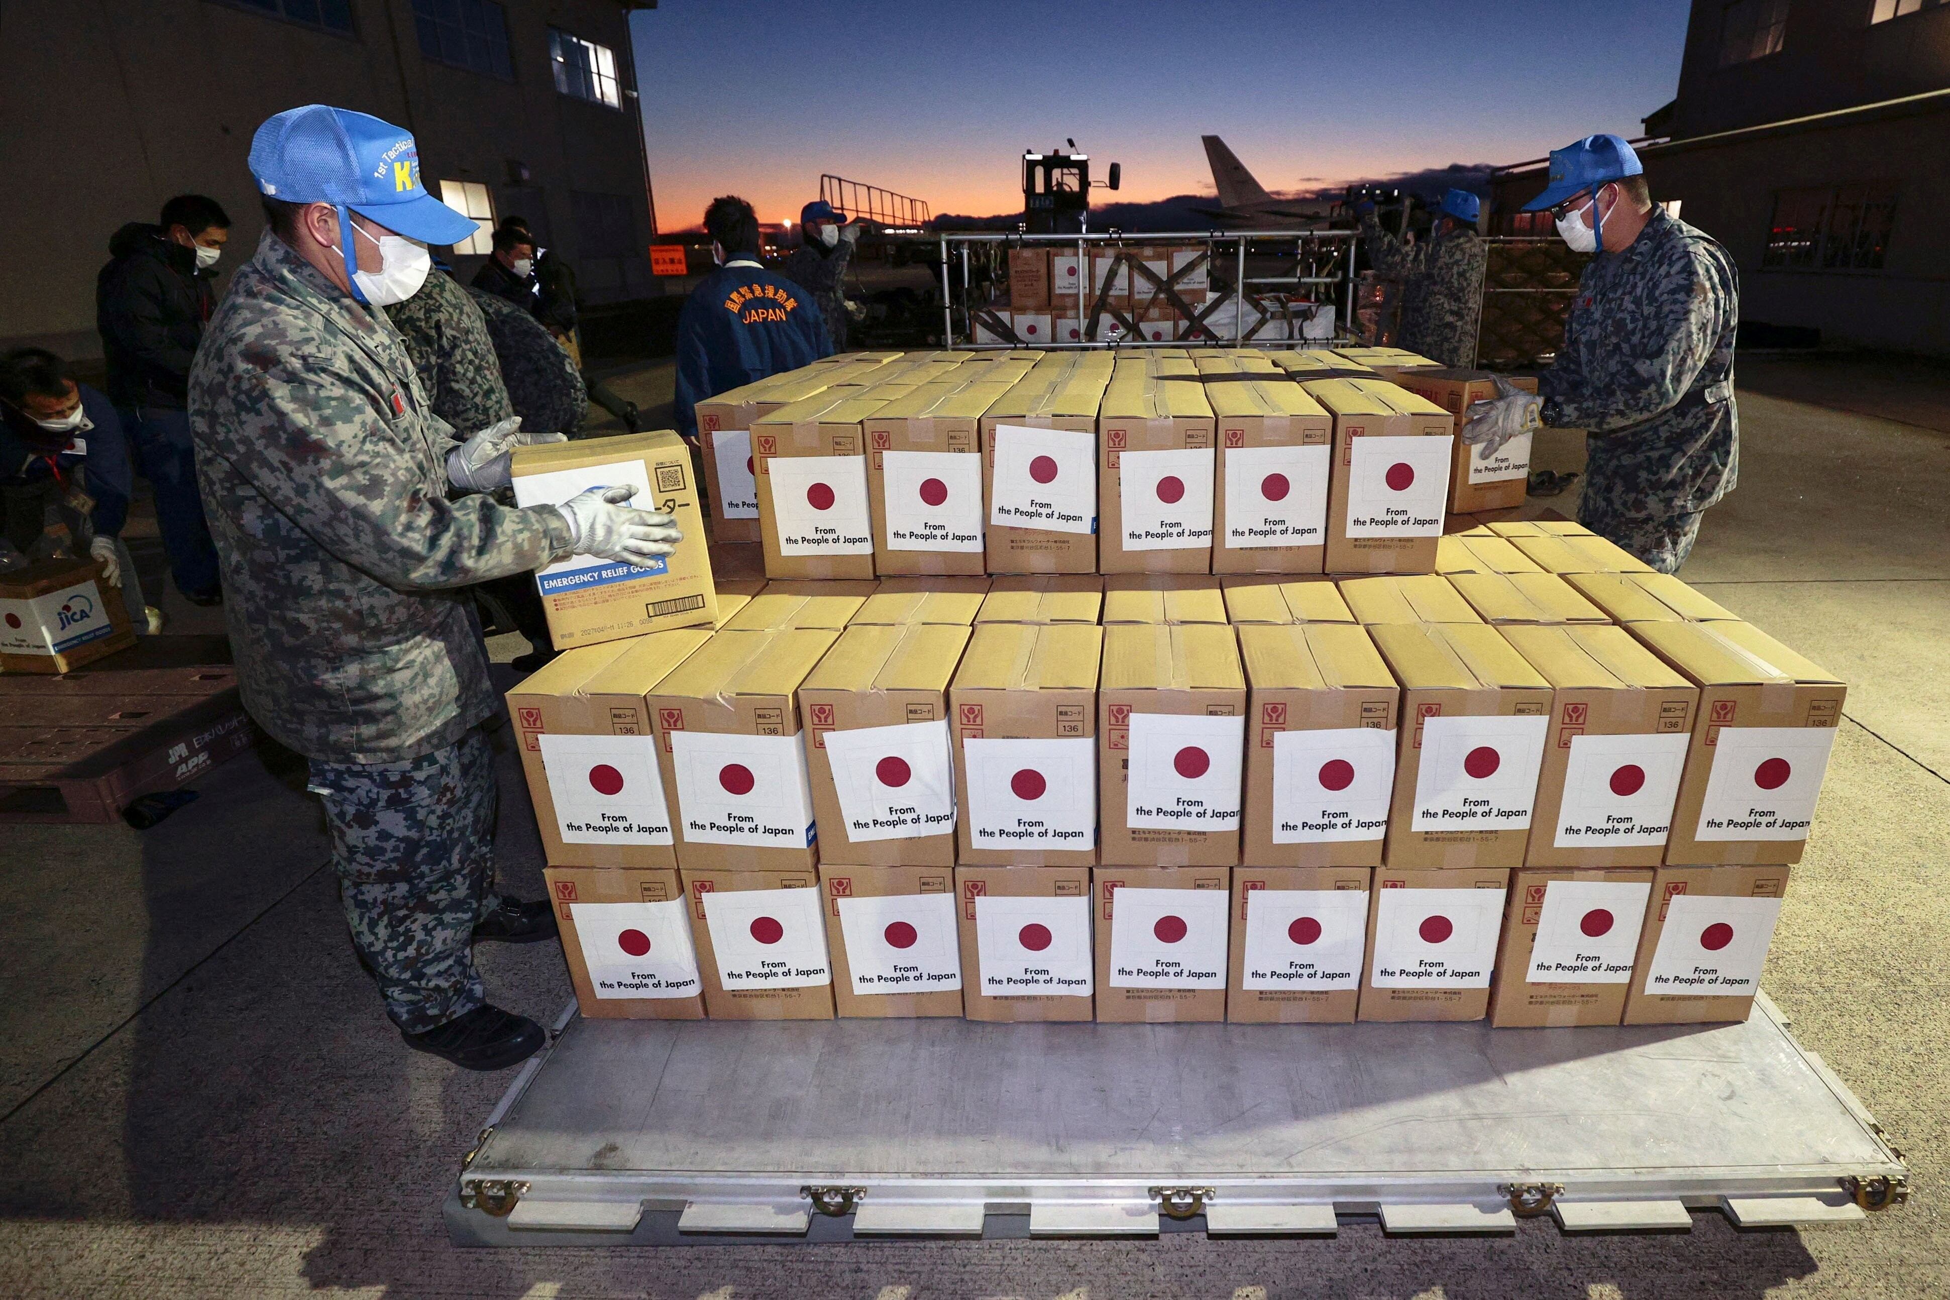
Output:
[[[1739,481],[1734,259],[1652,203],[1638,156],[1618,136],[1552,152],[1548,189],[1525,205],[1542,209],[1574,249],[1597,257],[1539,396],[1472,405],[1462,439],[1513,419],[1583,429],[1578,520],[1673,573],[1693,552],[1700,515]]]

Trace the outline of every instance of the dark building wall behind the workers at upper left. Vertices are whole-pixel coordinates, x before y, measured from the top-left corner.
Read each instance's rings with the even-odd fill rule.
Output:
[[[261,232],[246,170],[252,133],[283,109],[333,103],[413,131],[427,189],[482,181],[495,210],[519,210],[575,267],[585,302],[657,292],[634,96],[622,109],[556,92],[548,27],[608,45],[630,74],[626,6],[507,0],[515,80],[421,57],[411,0],[353,0],[355,35],[267,18],[218,0],[8,0],[0,6],[0,343],[99,355],[96,273],[109,236],[156,220],[164,199],[207,193],[230,212],[230,253]],[[528,168],[509,183],[509,160]],[[575,191],[628,203],[634,255],[587,249]],[[585,251],[589,255],[585,255]],[[458,259],[462,279],[478,257]]]

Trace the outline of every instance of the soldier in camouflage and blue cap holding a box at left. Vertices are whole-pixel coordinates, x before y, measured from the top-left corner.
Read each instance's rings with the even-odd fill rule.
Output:
[[[649,563],[675,530],[624,487],[501,507],[523,435],[456,439],[433,413],[374,308],[419,288],[421,242],[474,222],[421,187],[413,136],[306,105],[257,129],[250,166],[269,228],[189,374],[244,704],[312,762],[345,918],[406,1043],[503,1068],[544,1033],[486,1002],[470,943],[548,937],[554,920],[491,887],[482,725],[501,700],[458,589],[571,554]]]

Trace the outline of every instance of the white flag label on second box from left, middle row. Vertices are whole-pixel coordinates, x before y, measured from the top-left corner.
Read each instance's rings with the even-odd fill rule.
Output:
[[[669,731],[684,844],[805,848],[813,793],[800,737]]]

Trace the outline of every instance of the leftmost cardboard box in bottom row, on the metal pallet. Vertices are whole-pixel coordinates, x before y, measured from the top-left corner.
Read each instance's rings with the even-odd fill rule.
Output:
[[[575,1004],[589,1019],[704,1019],[677,867],[548,867]]]

